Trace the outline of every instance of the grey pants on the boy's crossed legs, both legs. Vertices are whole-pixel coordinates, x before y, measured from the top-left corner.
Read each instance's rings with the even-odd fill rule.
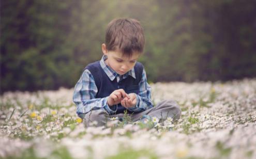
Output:
[[[180,107],[177,102],[173,100],[164,100],[159,102],[155,107],[145,110],[141,113],[130,114],[132,121],[138,121],[144,115],[149,117],[157,117],[158,119],[167,119],[168,117],[179,119],[180,117]],[[124,114],[109,115],[108,112],[104,109],[93,110],[85,114],[83,123],[85,126],[89,126],[91,122],[97,121],[97,126],[105,125],[107,121],[110,121],[111,118],[118,117],[121,119],[124,117]]]

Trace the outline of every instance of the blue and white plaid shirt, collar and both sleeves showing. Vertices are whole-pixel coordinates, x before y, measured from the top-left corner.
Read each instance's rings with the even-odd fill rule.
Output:
[[[134,68],[124,75],[119,75],[104,63],[104,60],[106,59],[107,56],[103,55],[100,60],[100,66],[108,75],[111,81],[115,80],[116,78],[117,82],[119,82],[128,77],[129,75],[133,78],[136,78]],[[109,96],[105,98],[95,98],[97,92],[98,89],[95,84],[93,75],[88,69],[85,69],[76,86],[74,87],[73,93],[73,102],[77,105],[77,114],[79,117],[83,118],[84,115],[91,110],[97,110],[100,108],[104,108],[105,110],[107,110],[109,115],[115,114],[116,111],[112,110],[108,105],[107,100]],[[131,112],[138,113],[152,107],[153,102],[151,100],[151,88],[147,83],[146,72],[145,70],[143,70],[142,78],[139,83],[137,103],[134,107],[128,109]]]

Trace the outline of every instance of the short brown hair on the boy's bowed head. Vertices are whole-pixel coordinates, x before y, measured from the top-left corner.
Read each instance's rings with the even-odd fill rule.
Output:
[[[128,56],[133,52],[141,54],[145,44],[143,28],[135,19],[114,19],[108,24],[105,43],[109,51],[120,51]]]

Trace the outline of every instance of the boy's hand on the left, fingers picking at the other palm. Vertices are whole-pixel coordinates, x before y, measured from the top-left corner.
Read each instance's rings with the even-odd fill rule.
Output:
[[[117,89],[110,94],[108,98],[108,105],[113,106],[115,104],[119,104],[124,98],[130,99],[124,89]]]

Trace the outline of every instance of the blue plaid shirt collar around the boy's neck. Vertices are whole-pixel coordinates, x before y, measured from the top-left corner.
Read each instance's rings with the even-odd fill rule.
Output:
[[[119,75],[113,69],[111,69],[109,66],[106,65],[106,63],[104,62],[106,59],[108,59],[108,57],[106,55],[103,55],[100,60],[100,66],[103,69],[103,71],[108,75],[111,81],[115,80],[117,76],[123,79],[127,78],[129,75],[132,76],[133,78],[136,78],[134,67],[130,71],[128,71],[126,74]]]

